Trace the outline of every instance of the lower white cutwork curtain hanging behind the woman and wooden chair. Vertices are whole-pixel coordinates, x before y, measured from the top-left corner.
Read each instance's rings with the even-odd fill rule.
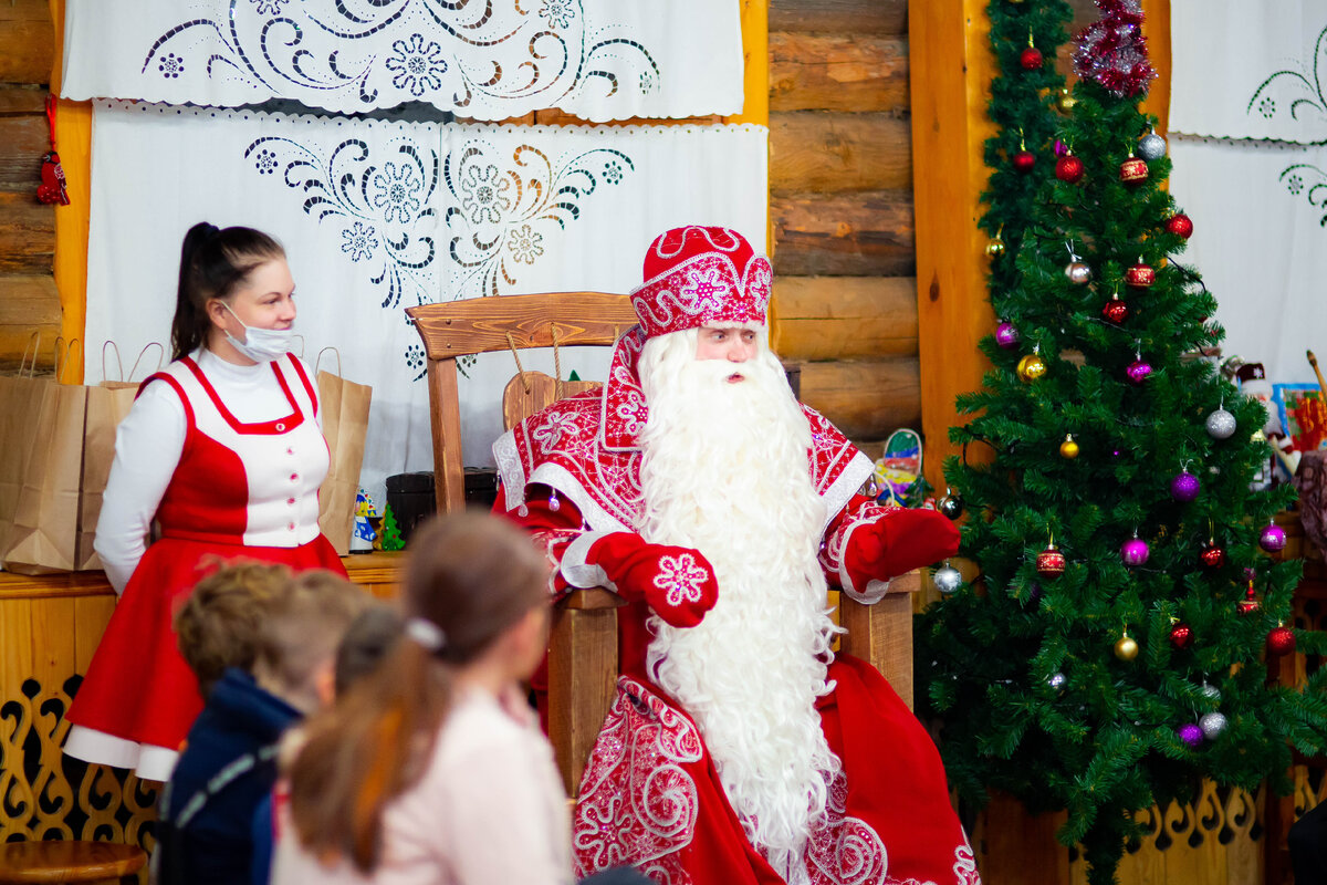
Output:
[[[373,385],[364,484],[431,470],[419,336],[405,308],[520,292],[628,292],[650,240],[721,224],[766,238],[762,126],[387,123],[97,102],[88,244],[89,383],[101,348],[167,341],[179,244],[200,220],[284,245],[311,361],[336,346]],[[564,349],[602,378],[608,348]],[[552,374],[551,352],[523,353]],[[328,368],[328,366],[324,366]],[[491,462],[510,353],[464,368],[466,463]]]

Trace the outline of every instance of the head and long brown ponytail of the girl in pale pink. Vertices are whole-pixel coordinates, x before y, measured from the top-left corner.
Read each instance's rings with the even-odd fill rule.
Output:
[[[433,752],[464,674],[528,675],[543,658],[548,564],[529,537],[495,516],[453,513],[410,539],[403,629],[374,673],[307,727],[291,766],[291,819],[320,856],[369,873],[382,813]]]

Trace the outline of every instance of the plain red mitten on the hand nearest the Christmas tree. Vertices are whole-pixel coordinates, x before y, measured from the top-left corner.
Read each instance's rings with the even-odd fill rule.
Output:
[[[852,529],[843,564],[860,589],[958,552],[958,528],[933,510],[890,510]]]

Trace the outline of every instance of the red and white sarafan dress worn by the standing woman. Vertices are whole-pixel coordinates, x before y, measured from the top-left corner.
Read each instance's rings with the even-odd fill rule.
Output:
[[[69,709],[65,752],[166,780],[203,705],[173,628],[198,581],[236,560],[345,569],[318,531],[318,486],[329,454],[317,393],[299,360],[287,354],[238,368],[199,352],[145,381],[135,409],[154,385],[169,386],[183,403],[183,448],[155,511],[161,540],[134,567]],[[222,391],[232,401],[265,397],[284,414],[242,422]],[[159,390],[154,395],[161,399]],[[122,431],[117,464],[123,442]],[[107,496],[113,487],[114,476]],[[98,535],[105,529],[104,520]]]

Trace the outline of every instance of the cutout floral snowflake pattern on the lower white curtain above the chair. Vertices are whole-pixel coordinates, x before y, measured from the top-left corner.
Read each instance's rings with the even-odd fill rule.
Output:
[[[458,139],[439,157],[411,141],[376,154],[362,138],[320,151],[297,137],[265,135],[244,159],[260,180],[297,196],[305,215],[337,226],[340,259],[365,275],[385,310],[431,303],[443,289],[453,299],[512,292],[522,269],[545,255],[553,226],[565,230],[596,188],[636,169],[612,147],[552,159],[520,143],[507,157],[483,138]],[[439,212],[446,249],[434,232]],[[422,346],[410,344],[403,360],[413,381],[427,374]],[[462,362],[464,372],[474,358]]]

